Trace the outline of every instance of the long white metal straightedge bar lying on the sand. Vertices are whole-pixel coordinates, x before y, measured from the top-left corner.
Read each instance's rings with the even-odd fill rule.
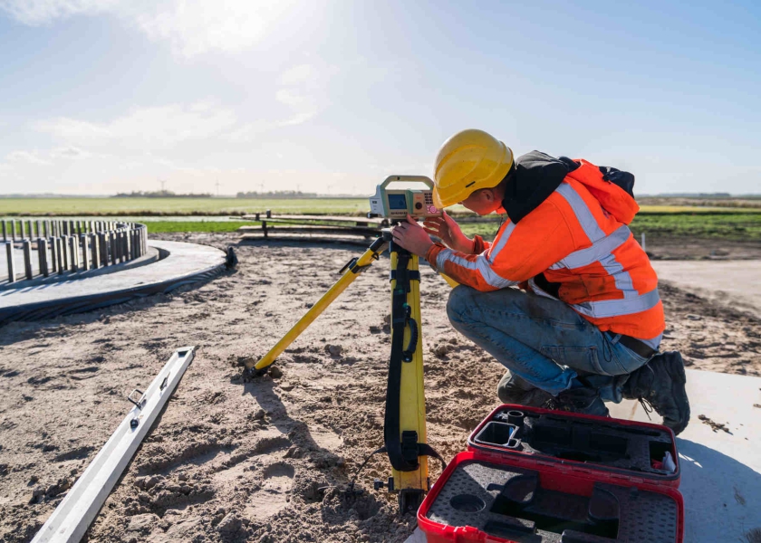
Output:
[[[177,387],[180,378],[193,361],[195,347],[178,348],[161,368],[145,393],[133,390],[128,399],[135,404],[109,441],[82,473],[72,490],[53,511],[32,543],[77,543],[90,527],[103,502],[119,481],[161,408]],[[135,393],[140,397],[133,398]]]

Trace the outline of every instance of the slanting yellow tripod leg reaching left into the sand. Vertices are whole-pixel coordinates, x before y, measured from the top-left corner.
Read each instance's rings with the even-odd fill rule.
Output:
[[[346,290],[346,287],[352,284],[361,273],[362,269],[370,266],[374,260],[378,259],[381,252],[385,251],[388,245],[388,242],[384,242],[382,238],[378,238],[371,244],[367,251],[362,253],[361,257],[349,262],[345,267],[346,271],[343,272],[341,279],[336,281],[335,284],[323,294],[323,298],[317,300],[312,308],[294,325],[294,328],[288,330],[283,338],[277,342],[274,348],[270,349],[261,360],[256,362],[255,369],[264,369],[275,362],[275,358],[283,354],[283,351],[294,342],[294,339],[298,338],[303,330],[307,329],[309,325],[313,323],[314,319],[317,319],[317,317],[319,317],[323,311],[331,305],[331,302],[338,298],[339,295]]]

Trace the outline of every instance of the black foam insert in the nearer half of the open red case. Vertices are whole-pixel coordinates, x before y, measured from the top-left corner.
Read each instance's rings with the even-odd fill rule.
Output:
[[[602,482],[591,496],[548,490],[539,472],[468,461],[445,481],[427,516],[519,543],[672,543],[678,506],[665,494]]]

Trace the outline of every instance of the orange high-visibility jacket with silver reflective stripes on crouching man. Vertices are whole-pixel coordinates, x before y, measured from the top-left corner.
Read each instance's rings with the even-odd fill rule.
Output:
[[[556,296],[602,331],[658,348],[665,329],[658,277],[626,226],[640,208],[600,168],[575,162],[552,194],[517,224],[503,224],[493,243],[476,236],[475,254],[436,243],[426,259],[478,291],[522,283]]]

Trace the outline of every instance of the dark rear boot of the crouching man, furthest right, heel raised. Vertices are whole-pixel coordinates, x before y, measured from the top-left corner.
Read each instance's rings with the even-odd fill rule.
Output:
[[[663,425],[679,434],[689,423],[689,400],[685,384],[684,361],[677,351],[660,353],[635,370],[624,383],[624,398],[640,400],[663,417]]]

